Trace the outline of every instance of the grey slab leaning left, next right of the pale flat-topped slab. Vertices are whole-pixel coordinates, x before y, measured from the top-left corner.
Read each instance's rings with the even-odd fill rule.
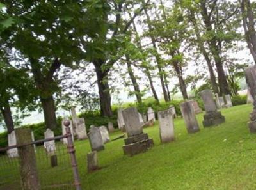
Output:
[[[188,101],[180,104],[180,111],[186,123],[188,133],[195,133],[200,131],[198,122],[196,120],[194,107],[191,105],[191,102]]]

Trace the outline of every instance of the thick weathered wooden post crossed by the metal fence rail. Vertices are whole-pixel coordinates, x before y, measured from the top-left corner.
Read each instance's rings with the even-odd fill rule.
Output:
[[[15,129],[17,145],[31,143],[31,130],[29,128]],[[20,158],[20,177],[22,190],[40,190],[40,183],[36,168],[36,155],[33,145],[18,148]]]

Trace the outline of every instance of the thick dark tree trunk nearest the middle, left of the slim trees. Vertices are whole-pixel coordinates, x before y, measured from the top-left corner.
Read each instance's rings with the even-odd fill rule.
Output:
[[[102,116],[113,116],[111,109],[111,96],[108,85],[108,72],[102,71],[103,60],[93,61],[97,75],[97,84],[100,95],[100,113]]]

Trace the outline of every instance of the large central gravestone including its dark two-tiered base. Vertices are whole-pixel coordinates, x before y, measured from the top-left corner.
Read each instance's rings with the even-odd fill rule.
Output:
[[[124,154],[132,156],[151,148],[154,145],[153,139],[148,138],[147,133],[143,133],[137,109],[135,107],[124,109],[123,116],[128,136],[124,139]]]

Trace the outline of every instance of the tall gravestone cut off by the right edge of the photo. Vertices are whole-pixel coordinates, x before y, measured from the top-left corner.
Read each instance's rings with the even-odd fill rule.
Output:
[[[252,95],[253,99],[253,110],[250,113],[250,122],[248,122],[248,127],[250,132],[256,132],[256,65],[252,67],[248,67],[245,70],[246,83],[248,86],[248,90],[250,91],[250,95]]]

